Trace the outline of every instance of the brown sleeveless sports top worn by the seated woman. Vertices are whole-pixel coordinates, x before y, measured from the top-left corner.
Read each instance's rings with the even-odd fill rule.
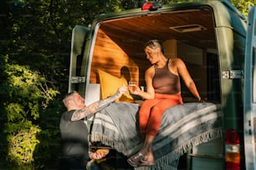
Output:
[[[180,77],[170,72],[168,68],[169,61],[170,59],[168,59],[166,65],[161,68],[154,66],[155,75],[152,83],[156,93],[177,94],[181,92]]]

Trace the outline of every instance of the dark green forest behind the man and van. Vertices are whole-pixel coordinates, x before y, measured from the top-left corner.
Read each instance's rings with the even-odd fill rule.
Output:
[[[189,2],[162,0],[163,4]],[[231,0],[247,17],[255,0]],[[1,0],[0,169],[57,169],[71,33],[136,0]]]

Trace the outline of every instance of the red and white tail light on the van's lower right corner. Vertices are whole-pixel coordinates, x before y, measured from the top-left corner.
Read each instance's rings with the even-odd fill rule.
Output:
[[[226,170],[240,170],[240,140],[234,130],[226,131]]]

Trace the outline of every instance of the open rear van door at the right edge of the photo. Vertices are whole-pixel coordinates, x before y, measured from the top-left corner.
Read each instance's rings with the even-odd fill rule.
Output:
[[[247,170],[256,169],[255,134],[256,134],[256,7],[248,12],[248,31],[246,37],[244,61],[244,153]]]

